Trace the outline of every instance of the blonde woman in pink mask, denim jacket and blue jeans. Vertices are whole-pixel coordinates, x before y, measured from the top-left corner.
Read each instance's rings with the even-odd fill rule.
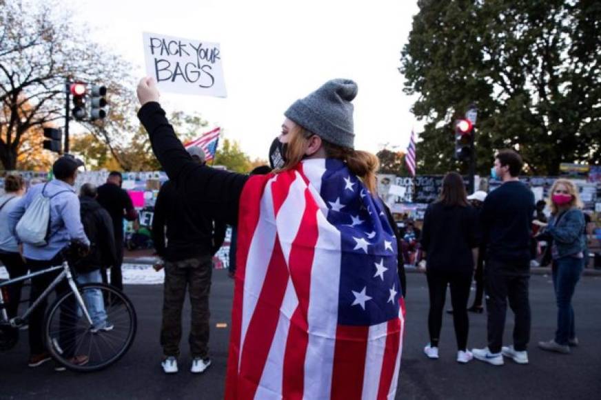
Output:
[[[557,299],[557,331],[555,339],[538,342],[542,350],[569,354],[570,346],[578,346],[574,328],[572,296],[584,268],[584,214],[578,190],[567,179],[558,179],[551,187],[551,219],[543,226],[540,240],[551,241],[553,287]],[[536,223],[536,222],[535,222]]]

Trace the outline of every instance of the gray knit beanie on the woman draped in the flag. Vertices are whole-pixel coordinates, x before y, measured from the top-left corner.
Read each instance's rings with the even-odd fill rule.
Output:
[[[357,90],[350,79],[332,79],[305,99],[295,101],[284,115],[329,143],[354,148],[351,101]]]

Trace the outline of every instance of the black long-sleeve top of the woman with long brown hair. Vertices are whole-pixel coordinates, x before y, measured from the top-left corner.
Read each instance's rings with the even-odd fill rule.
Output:
[[[480,242],[478,212],[473,207],[436,202],[426,209],[421,244],[428,270],[471,272],[471,250]]]

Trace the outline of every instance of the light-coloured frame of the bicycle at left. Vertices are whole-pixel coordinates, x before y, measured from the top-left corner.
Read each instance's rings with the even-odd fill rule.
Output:
[[[13,328],[18,328],[21,325],[21,321],[23,321],[24,319],[27,319],[27,317],[30,316],[30,314],[33,312],[33,310],[37,306],[39,306],[39,303],[41,303],[41,301],[43,301],[43,299],[48,297],[50,292],[52,292],[52,290],[54,290],[54,288],[56,288],[57,285],[63,279],[67,279],[67,281],[69,283],[69,288],[73,292],[75,299],[77,299],[77,303],[79,303],[81,310],[83,310],[83,314],[85,315],[85,318],[88,319],[88,322],[90,323],[90,325],[92,325],[92,318],[90,317],[90,314],[88,313],[88,308],[85,307],[85,303],[83,302],[83,298],[81,297],[79,290],[77,290],[77,284],[75,283],[75,280],[73,279],[73,275],[71,274],[71,270],[69,269],[69,263],[67,261],[63,261],[61,266],[50,267],[45,270],[41,270],[41,271],[33,272],[31,274],[23,275],[23,277],[9,279],[8,281],[4,281],[4,282],[0,283],[0,288],[2,288],[3,286],[9,286],[12,283],[25,281],[32,277],[37,277],[37,276],[43,275],[43,274],[49,274],[50,272],[54,272],[54,271],[61,270],[61,269],[63,271],[59,274],[59,276],[54,278],[54,281],[52,281],[52,283],[50,283],[50,286],[48,286],[48,288],[46,288],[42,292],[42,294],[40,294],[40,296],[36,299],[36,301],[34,301],[34,303],[26,310],[26,312],[23,315],[14,317],[9,320],[8,314],[6,313],[6,308],[5,307],[1,308],[0,322],[7,321],[8,323],[10,323],[10,326],[12,326]],[[2,305],[4,304],[4,299],[3,299],[1,291],[0,291],[0,304],[2,304]]]

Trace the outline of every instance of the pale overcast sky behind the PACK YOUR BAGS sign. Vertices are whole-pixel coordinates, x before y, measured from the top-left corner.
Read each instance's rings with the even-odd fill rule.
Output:
[[[167,112],[198,111],[251,157],[267,159],[283,112],[328,79],[358,83],[355,148],[407,148],[420,130],[403,94],[400,50],[416,1],[65,0],[94,40],[145,75],[142,32],[220,43],[227,98],[164,93]]]

